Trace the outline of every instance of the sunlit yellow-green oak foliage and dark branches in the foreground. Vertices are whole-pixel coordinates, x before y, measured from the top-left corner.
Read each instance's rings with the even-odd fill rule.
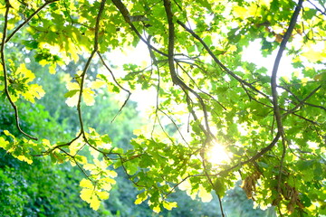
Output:
[[[226,189],[242,179],[248,198],[261,207],[276,206],[280,215],[326,214],[325,4],[0,1],[0,90],[21,134],[1,128],[0,146],[28,164],[50,156],[54,164],[78,166],[85,175],[82,200],[94,210],[109,198],[115,169],[122,167],[139,189],[135,203],[149,199],[154,212],[177,207],[168,198],[177,187],[203,201],[214,190],[221,202]],[[256,55],[277,51],[272,71],[245,61],[245,47],[252,42],[261,44]],[[139,56],[150,61],[125,64],[123,70],[111,67],[109,61],[120,60],[108,60],[107,53],[139,43],[148,47]],[[10,52],[17,48],[19,53]],[[34,60],[25,58],[30,53]],[[284,55],[293,70],[279,76]],[[67,106],[77,109],[76,137],[52,140],[21,127],[19,103],[36,104],[45,94],[42,75],[29,69],[31,61],[66,75],[62,94]],[[93,67],[101,72],[91,73]],[[156,91],[157,101],[151,125],[134,131],[132,148],[112,144],[109,135],[83,122],[82,109],[96,107],[97,93],[125,93],[123,109],[139,89]],[[210,161],[216,144],[228,153],[227,162]]]

